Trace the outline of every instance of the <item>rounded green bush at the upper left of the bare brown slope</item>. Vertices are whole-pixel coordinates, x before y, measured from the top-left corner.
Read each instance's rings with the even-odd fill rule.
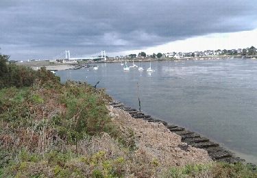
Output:
[[[93,136],[114,131],[101,94],[86,85],[77,87],[72,82],[62,89],[60,103],[66,105],[66,113],[54,119],[62,138],[74,141],[82,139],[85,134]]]

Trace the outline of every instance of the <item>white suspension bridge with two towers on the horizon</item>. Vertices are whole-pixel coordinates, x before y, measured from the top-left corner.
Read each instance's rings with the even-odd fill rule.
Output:
[[[65,57],[64,57],[65,54]],[[77,62],[78,60],[103,60],[106,61],[106,51],[101,51],[100,53],[95,53],[91,55],[90,57],[86,57],[85,55],[75,55],[77,57],[71,58],[71,53],[70,51],[62,51],[59,55],[57,55],[54,60],[57,60],[58,62],[63,62],[63,63],[69,63],[69,62]],[[94,57],[96,56],[96,57]]]

